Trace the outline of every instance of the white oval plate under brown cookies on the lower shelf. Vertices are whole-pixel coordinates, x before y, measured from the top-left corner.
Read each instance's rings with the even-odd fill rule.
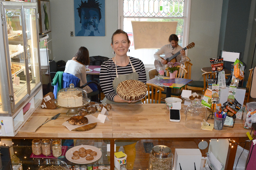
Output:
[[[86,157],[89,156],[90,154],[87,154],[87,156],[84,158],[80,157],[79,159],[72,159],[73,152],[78,151],[82,147],[84,147],[84,149],[91,149],[91,150],[97,152],[97,156],[94,156],[93,160],[86,160]],[[92,162],[95,162],[96,160],[98,160],[101,157],[101,155],[102,155],[102,153],[99,148],[96,148],[96,147],[90,146],[90,145],[80,145],[80,146],[76,146],[76,147],[69,149],[66,152],[65,156],[70,162],[73,162],[76,164],[88,164],[88,163],[92,163]]]

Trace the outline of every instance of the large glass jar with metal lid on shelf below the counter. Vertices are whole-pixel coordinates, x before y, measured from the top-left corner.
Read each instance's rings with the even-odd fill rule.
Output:
[[[152,148],[149,158],[149,170],[172,169],[173,154],[169,147],[157,145]]]

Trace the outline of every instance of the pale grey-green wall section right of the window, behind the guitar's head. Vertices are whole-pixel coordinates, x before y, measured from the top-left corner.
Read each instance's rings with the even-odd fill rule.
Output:
[[[195,47],[188,50],[193,64],[191,79],[203,80],[202,67],[210,67],[210,59],[218,55],[219,28],[221,25],[222,0],[192,0],[189,42]]]

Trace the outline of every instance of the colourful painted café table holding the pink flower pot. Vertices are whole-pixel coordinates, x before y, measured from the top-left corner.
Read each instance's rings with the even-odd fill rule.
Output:
[[[170,77],[154,78],[148,80],[147,83],[155,84],[157,86],[163,86],[166,88],[166,97],[171,97],[171,88],[182,88],[192,80],[184,78],[170,79]]]

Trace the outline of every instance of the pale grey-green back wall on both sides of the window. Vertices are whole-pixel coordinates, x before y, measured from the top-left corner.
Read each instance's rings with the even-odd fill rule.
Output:
[[[118,29],[118,0],[105,1],[104,37],[70,36],[70,31],[74,31],[73,0],[50,0],[50,7],[55,61],[70,60],[81,46],[88,48],[90,56],[113,56],[110,43],[113,32]],[[194,42],[195,48],[188,50],[188,57],[193,64],[193,80],[202,80],[201,68],[210,67],[209,58],[217,56],[221,13],[222,0],[191,1],[189,43]]]

